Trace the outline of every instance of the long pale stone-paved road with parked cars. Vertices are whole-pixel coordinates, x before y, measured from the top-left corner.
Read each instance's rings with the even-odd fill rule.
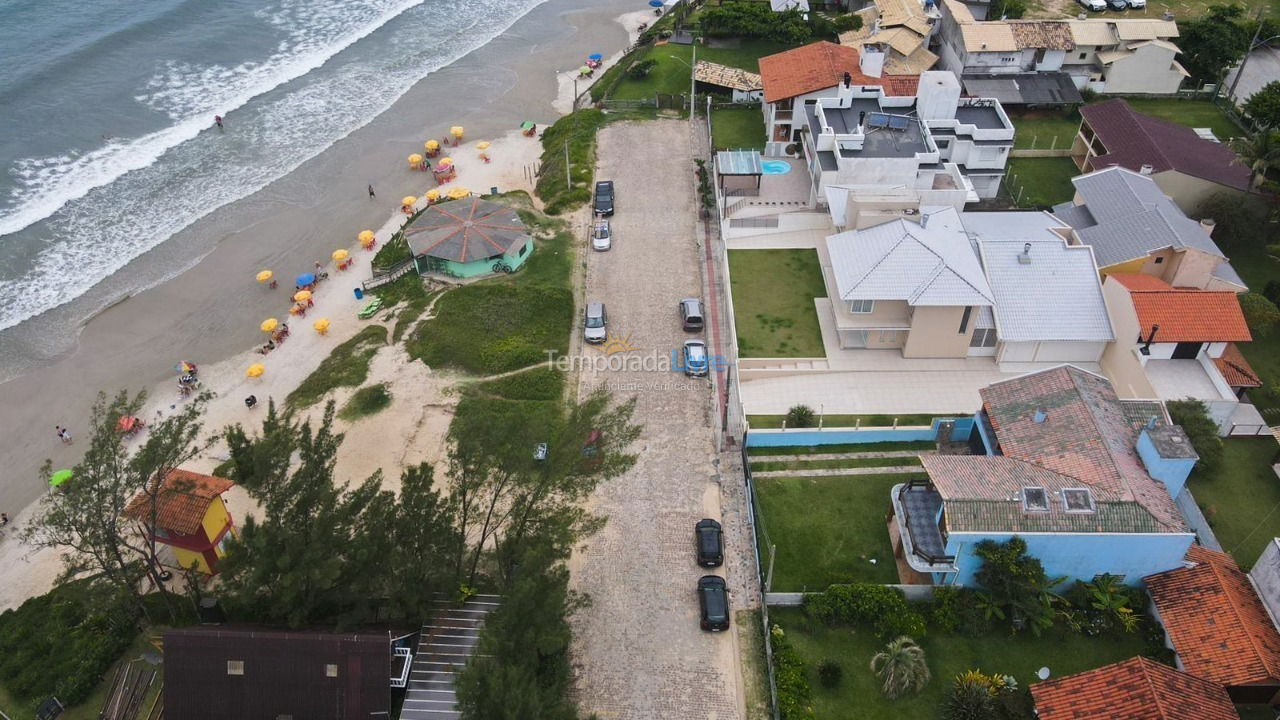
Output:
[[[740,575],[750,566],[751,548],[732,539],[739,533],[726,528],[731,539],[723,568],[703,570],[694,562],[694,523],[722,518],[712,384],[673,372],[621,368],[625,357],[666,360],[692,337],[680,329],[676,313],[680,299],[703,295],[689,123],[607,127],[596,177],[613,179],[617,188],[614,240],[608,252],[585,251],[584,300],[603,301],[611,333],[635,350],[605,355],[584,348],[584,360],[618,365],[584,368],[579,391],[604,383],[618,398],[635,396],[644,432],[631,471],[593,496],[590,510],[608,521],[570,564],[573,588],[591,597],[590,607],[573,618],[579,706],[584,716],[604,720],[741,719],[736,633],[699,629],[694,591],[699,577],[722,574],[733,607],[750,603]],[[724,516],[737,523],[736,512]]]

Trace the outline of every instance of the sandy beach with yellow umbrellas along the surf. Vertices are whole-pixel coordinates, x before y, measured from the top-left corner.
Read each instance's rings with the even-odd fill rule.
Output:
[[[59,570],[56,556],[32,552],[14,538],[15,528],[33,510],[31,503],[45,491],[40,462],[51,457],[56,466],[72,466],[79,456],[78,443],[56,441],[54,425],[67,425],[83,439],[88,407],[99,389],[146,388],[145,418],[172,413],[182,402],[173,365],[191,360],[200,364],[204,388],[215,393],[205,432],[212,434],[236,423],[252,427],[265,413],[268,398],[282,401],[333,347],[367,323],[390,327],[394,311],[371,320],[356,318],[364,301],[356,300],[352,288],[370,275],[374,256],[358,247],[356,234],[374,229],[380,247],[403,224],[399,199],[421,197],[435,186],[430,174],[410,170],[406,158],[420,152],[424,140],[447,135],[452,124],[466,127],[466,141],[447,150],[460,172],[443,190],[531,190],[541,146],[513,128],[532,119],[541,129],[554,119],[559,108],[572,102],[572,76],[562,69],[576,68],[591,51],[616,60],[639,23],[650,18],[635,10],[620,17],[634,8],[631,4],[586,5],[572,0],[536,8],[511,31],[433,73],[392,110],[280,182],[183,231],[154,255],[195,252],[198,263],[97,313],[83,323],[72,347],[0,384],[0,427],[6,437],[0,448],[0,466],[6,469],[0,479],[0,509],[14,520],[0,539],[0,610],[47,591]],[[479,87],[477,100],[465,110],[443,108],[438,101],[451,92],[465,95],[470,87]],[[492,142],[486,150],[490,163],[481,161],[475,149],[481,140]],[[375,199],[367,197],[366,184],[375,187]],[[328,261],[337,249],[351,252],[352,268],[339,272]],[[164,266],[155,258],[150,260],[150,265],[134,263],[136,272]],[[266,356],[255,352],[264,341],[259,323],[269,316],[288,318],[289,278],[310,272],[315,261],[323,261],[329,273],[316,288],[315,306],[306,318],[291,322],[287,342]],[[262,268],[280,278],[276,290],[253,282]],[[50,315],[56,319],[72,310],[63,307]],[[317,318],[332,322],[324,336],[311,328]],[[10,333],[8,341],[22,342],[23,332],[29,333],[22,325],[13,329],[20,332]],[[264,375],[247,378],[244,370],[259,361],[266,368]],[[360,480],[383,469],[387,487],[396,488],[399,468],[440,460],[456,400],[448,391],[448,377],[411,363],[396,346],[374,357],[366,384],[374,383],[388,384],[392,406],[353,424],[339,420],[347,439],[337,478]],[[342,388],[334,400],[340,406],[355,389]],[[248,395],[259,398],[256,409],[244,406]],[[320,409],[317,405],[310,413]],[[211,470],[225,457],[223,452],[215,446],[192,469]],[[228,500],[237,516],[251,509],[247,496],[237,489]]]

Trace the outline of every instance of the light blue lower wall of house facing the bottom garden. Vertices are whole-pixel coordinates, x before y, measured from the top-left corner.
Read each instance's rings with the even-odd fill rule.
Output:
[[[1092,580],[1102,573],[1123,575],[1125,584],[1137,585],[1155,573],[1180,568],[1192,533],[957,533],[947,537],[947,552],[956,556],[956,584],[975,585],[974,575],[982,560],[974,546],[983,539],[997,542],[1018,536],[1027,541],[1027,552],[1038,557],[1050,578]]]

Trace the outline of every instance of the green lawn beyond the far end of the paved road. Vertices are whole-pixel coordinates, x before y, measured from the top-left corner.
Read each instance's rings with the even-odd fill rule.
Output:
[[[751,70],[755,73],[759,72],[759,65],[756,64],[758,59],[788,49],[791,49],[790,45],[771,42],[767,40],[744,40],[740,47],[707,47],[705,45],[699,45],[698,59],[719,63],[731,68],[742,68],[744,70]],[[654,45],[637,51],[634,55],[635,63],[652,59],[658,64],[649,72],[648,76],[639,79],[627,77],[625,70],[618,70],[621,74],[617,77],[617,85],[614,85],[612,92],[608,94],[609,99],[652,100],[657,92],[667,95],[687,95],[689,81],[692,77],[692,45]],[[627,60],[622,60],[620,65],[626,63]],[[602,86],[602,91],[608,91],[604,83],[611,79],[613,78],[600,78],[598,85]],[[599,99],[596,92],[593,92],[591,96],[594,99]],[[759,113],[756,114],[759,115]],[[763,119],[760,120],[760,126],[763,128]]]

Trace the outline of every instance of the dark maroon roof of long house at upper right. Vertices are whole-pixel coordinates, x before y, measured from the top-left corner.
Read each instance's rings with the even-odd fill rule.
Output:
[[[1084,105],[1080,115],[1106,146],[1106,155],[1091,160],[1094,168],[1115,164],[1138,172],[1151,165],[1157,173],[1172,169],[1236,190],[1251,187],[1249,168],[1235,161],[1230,147],[1203,140],[1188,127],[1137,113],[1123,99]]]

